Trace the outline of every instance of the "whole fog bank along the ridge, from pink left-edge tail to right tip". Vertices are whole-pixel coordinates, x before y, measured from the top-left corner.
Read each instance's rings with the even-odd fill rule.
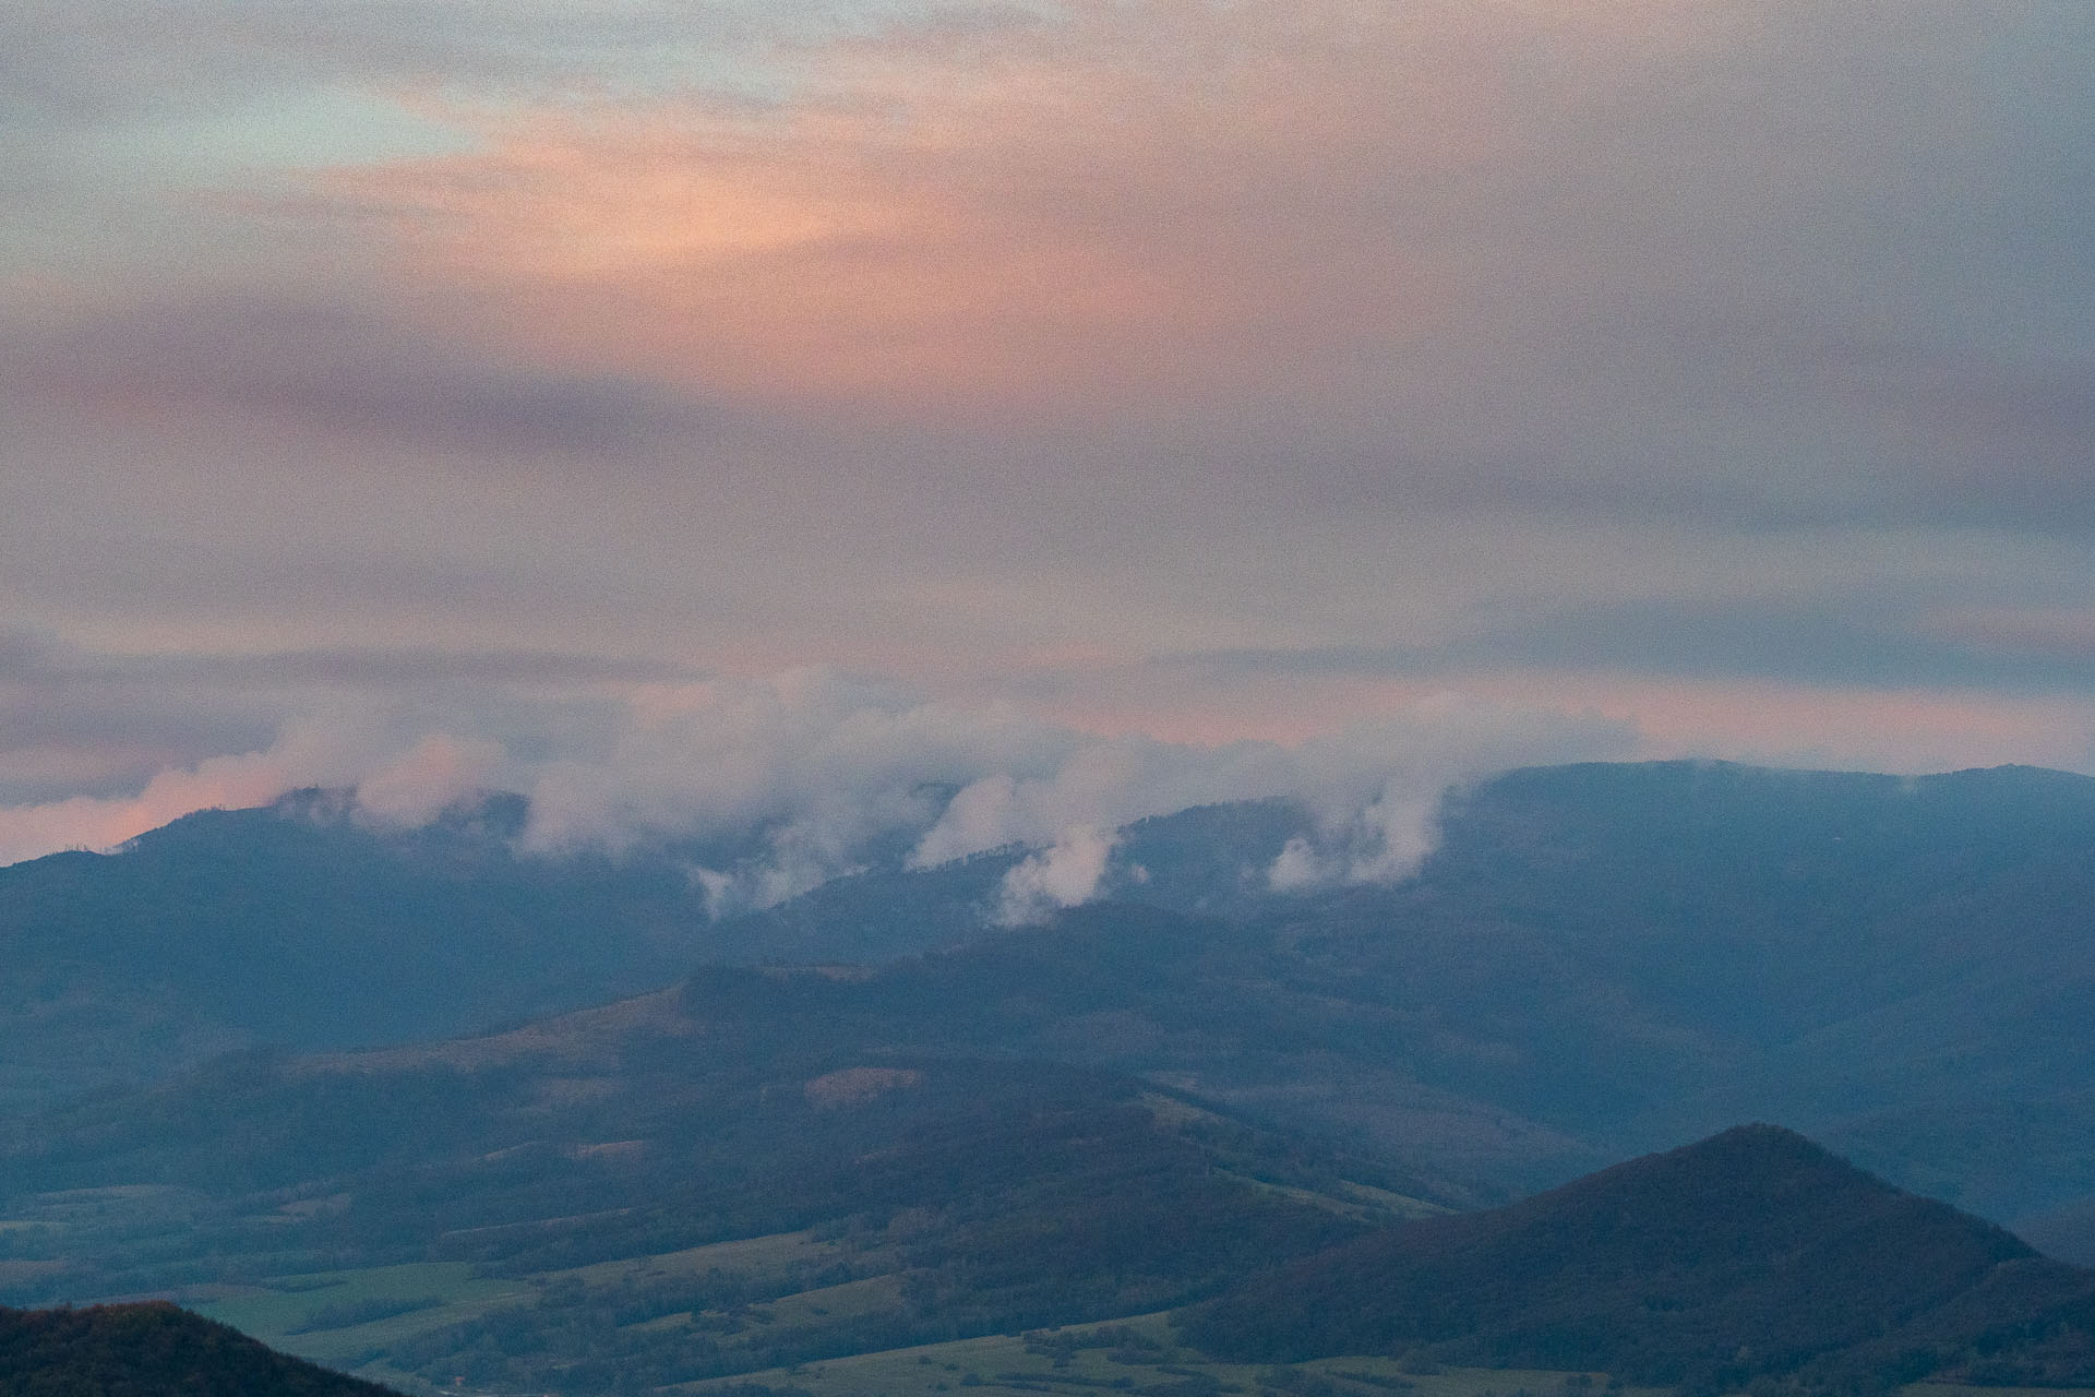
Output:
[[[541,754],[532,754],[532,750]],[[624,852],[763,831],[763,855],[696,869],[716,909],[769,907],[851,871],[878,846],[936,867],[1033,850],[1004,917],[1094,896],[1112,831],[1198,804],[1282,796],[1311,811],[1278,890],[1397,878],[1429,850],[1443,790],[1521,764],[1619,758],[1628,725],[1483,704],[1418,702],[1299,744],[1192,746],[1096,735],[1010,706],[966,706],[815,668],[645,687],[551,748],[545,733],[406,735],[383,723],[293,725],[266,750],[157,775],[136,796],[0,808],[0,859],[111,848],[207,806],[352,788],[362,819],[415,827],[486,788],[530,798],[520,848]],[[549,754],[545,754],[549,752]]]

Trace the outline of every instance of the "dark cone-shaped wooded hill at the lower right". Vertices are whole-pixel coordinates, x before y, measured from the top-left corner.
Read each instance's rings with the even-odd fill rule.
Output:
[[[2095,1387],[2095,1271],[1754,1125],[1341,1244],[1184,1332],[1247,1361],[1416,1351],[1691,1391]]]

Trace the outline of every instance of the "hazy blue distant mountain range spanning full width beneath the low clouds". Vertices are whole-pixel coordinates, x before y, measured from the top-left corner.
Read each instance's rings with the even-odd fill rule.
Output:
[[[691,867],[763,831],[549,861],[515,852],[524,815],[388,831],[306,794],[0,869],[0,1079],[34,1114],[214,1051],[411,1043],[691,976],[693,1022],[1106,1070],[1471,1200],[1781,1118],[2095,1259],[2095,779],[1517,771],[1448,800],[1414,878],[1295,894],[1265,871],[1309,815],[1211,806],[1131,825],[1108,901],[1018,932],[991,913],[1022,850],[878,850],[710,922]],[[735,970],[765,961],[872,974]]]

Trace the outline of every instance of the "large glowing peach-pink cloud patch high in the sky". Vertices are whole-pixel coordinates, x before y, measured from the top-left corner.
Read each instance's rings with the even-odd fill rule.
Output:
[[[1448,230],[1508,232],[1469,184],[1640,61],[1649,8],[1094,0],[821,48],[779,107],[463,113],[484,151],[329,189],[513,343],[624,373],[955,411],[1343,392],[1360,341],[1446,323],[1492,256]],[[1538,40],[1573,71],[1523,67]]]

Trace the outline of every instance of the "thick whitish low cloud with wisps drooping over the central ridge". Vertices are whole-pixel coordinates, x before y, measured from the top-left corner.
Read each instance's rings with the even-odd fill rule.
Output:
[[[605,758],[536,777],[526,842],[622,848],[765,827],[763,857],[704,871],[721,907],[784,901],[882,842],[907,844],[911,867],[1024,848],[1035,852],[999,907],[1024,922],[1089,901],[1110,831],[1148,815],[1284,796],[1328,836],[1314,878],[1293,886],[1391,880],[1429,850],[1429,813],[1448,785],[1632,750],[1622,723],[1458,695],[1301,744],[1100,737],[802,670],[645,693]]]

